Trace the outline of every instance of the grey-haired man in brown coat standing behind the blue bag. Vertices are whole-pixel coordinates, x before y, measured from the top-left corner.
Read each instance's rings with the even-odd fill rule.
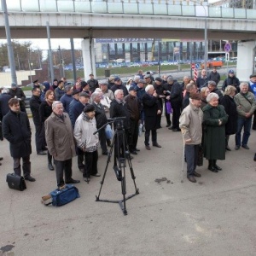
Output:
[[[45,120],[45,139],[49,154],[55,159],[57,186],[65,183],[79,183],[72,178],[72,158],[75,156],[73,129],[67,113],[63,113],[61,102],[53,102],[52,113]],[[65,172],[65,183],[63,179]]]

